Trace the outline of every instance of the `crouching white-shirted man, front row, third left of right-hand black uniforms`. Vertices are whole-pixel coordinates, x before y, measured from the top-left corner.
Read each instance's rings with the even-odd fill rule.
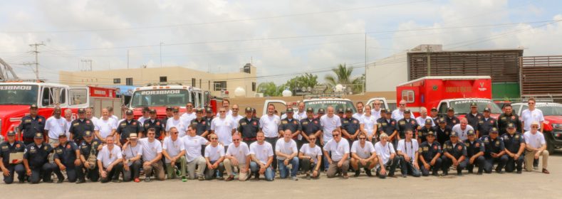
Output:
[[[351,145],[351,167],[355,170],[355,177],[359,176],[360,168],[365,170],[367,176],[373,176],[371,169],[378,163],[377,153],[373,143],[367,140],[367,134],[361,132],[358,140]]]

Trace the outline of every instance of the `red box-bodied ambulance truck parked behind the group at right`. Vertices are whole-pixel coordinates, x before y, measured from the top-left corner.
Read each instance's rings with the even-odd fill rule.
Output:
[[[439,115],[447,114],[449,107],[454,114],[464,116],[470,111],[470,104],[477,103],[479,112],[491,109],[491,116],[497,118],[501,109],[491,101],[491,77],[489,76],[445,76],[422,77],[396,87],[396,99],[406,101],[408,109],[419,115],[420,108],[436,107]]]

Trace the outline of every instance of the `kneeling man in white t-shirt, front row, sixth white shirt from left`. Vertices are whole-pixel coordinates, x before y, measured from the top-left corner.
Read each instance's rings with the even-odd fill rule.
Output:
[[[222,161],[224,161],[224,146],[219,144],[219,136],[217,134],[211,134],[209,138],[211,139],[211,144],[205,147],[205,161],[207,162],[205,180],[212,180],[215,177],[223,180],[224,163]]]

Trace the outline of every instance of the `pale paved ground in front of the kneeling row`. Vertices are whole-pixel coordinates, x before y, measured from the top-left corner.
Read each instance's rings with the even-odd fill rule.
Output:
[[[368,178],[350,177],[299,181],[152,181],[150,183],[0,184],[2,198],[561,198],[562,151],[550,157],[551,174],[484,174],[462,177]],[[452,172],[454,173],[454,172]],[[531,185],[526,185],[531,184]],[[55,195],[55,193],[59,193]],[[24,196],[25,195],[25,196]],[[129,198],[126,197],[125,198]]]

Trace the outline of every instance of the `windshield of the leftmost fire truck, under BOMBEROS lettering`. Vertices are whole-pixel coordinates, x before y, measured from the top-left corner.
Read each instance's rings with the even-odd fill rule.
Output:
[[[37,85],[0,85],[0,104],[37,104]]]

